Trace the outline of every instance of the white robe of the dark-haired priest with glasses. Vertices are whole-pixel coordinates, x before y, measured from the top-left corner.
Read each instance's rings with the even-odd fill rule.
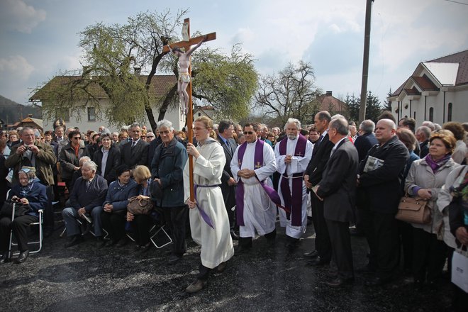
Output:
[[[254,143],[247,143],[245,148],[242,165],[239,167],[238,152],[239,147],[235,150],[233,160],[230,162],[230,170],[233,172],[233,177],[236,181],[242,179],[244,184],[244,224],[239,227],[239,235],[241,238],[254,238],[255,230],[260,235],[271,233],[275,228],[277,218],[277,206],[269,199],[257,178],[249,179],[238,177],[240,169],[255,170],[260,181],[273,187],[272,180],[269,179],[276,170],[277,165],[274,160],[274,152],[271,146],[267,143],[263,145],[263,166],[255,168],[255,146]]]

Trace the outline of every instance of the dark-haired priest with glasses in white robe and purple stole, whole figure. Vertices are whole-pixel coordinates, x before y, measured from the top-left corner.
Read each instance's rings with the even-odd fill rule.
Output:
[[[269,179],[277,169],[272,147],[257,138],[257,123],[244,126],[245,143],[234,152],[230,169],[238,182],[236,189],[236,221],[239,225],[238,252],[247,252],[252,247],[255,231],[264,235],[273,245],[277,235],[275,221],[277,208],[265,189],[272,190]],[[270,188],[264,186],[270,186]]]

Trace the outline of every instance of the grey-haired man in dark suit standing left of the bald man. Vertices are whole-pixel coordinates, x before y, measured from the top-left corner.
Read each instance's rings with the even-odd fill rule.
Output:
[[[330,122],[328,136],[335,144],[331,150],[323,178],[318,182],[316,194],[323,199],[323,216],[327,223],[338,275],[327,282],[341,286],[354,279],[352,265],[350,221],[354,220],[357,150],[347,138],[347,121],[343,118]]]

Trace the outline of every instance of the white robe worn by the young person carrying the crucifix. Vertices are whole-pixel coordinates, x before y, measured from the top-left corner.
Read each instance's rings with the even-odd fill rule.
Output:
[[[218,186],[221,184],[226,160],[223,147],[211,138],[196,149],[201,154],[196,160],[194,157],[194,183],[199,185],[196,189],[196,201],[210,217],[214,229],[206,224],[199,208],[193,208],[189,212],[190,230],[194,242],[201,245],[201,264],[213,269],[234,255],[228,213],[221,188]],[[185,199],[189,199],[189,162],[184,169],[184,193]]]

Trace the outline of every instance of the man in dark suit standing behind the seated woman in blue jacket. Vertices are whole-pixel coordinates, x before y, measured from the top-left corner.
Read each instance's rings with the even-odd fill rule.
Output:
[[[130,126],[132,140],[121,145],[121,164],[127,165],[130,169],[138,165],[147,165],[148,145],[145,140],[140,139],[141,128],[138,123]]]

